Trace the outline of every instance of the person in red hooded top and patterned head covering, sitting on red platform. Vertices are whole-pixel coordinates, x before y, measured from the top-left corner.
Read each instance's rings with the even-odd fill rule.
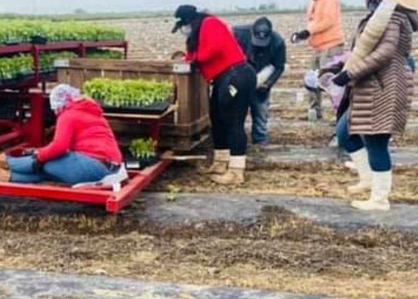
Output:
[[[53,141],[23,157],[0,157],[1,181],[76,185],[119,172],[122,154],[100,106],[69,85],[50,94],[57,115]]]

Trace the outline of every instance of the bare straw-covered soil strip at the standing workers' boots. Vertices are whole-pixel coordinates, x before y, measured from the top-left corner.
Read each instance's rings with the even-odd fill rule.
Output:
[[[352,200],[346,187],[356,182],[356,175],[343,165],[333,163],[272,163],[249,165],[247,182],[237,186],[219,186],[210,177],[199,174],[195,164],[182,164],[170,168],[151,191],[168,191],[175,185],[183,192],[197,193],[250,193],[292,194],[306,197],[332,197]],[[397,167],[391,200],[418,203],[418,168]],[[367,199],[368,194],[358,196]]]

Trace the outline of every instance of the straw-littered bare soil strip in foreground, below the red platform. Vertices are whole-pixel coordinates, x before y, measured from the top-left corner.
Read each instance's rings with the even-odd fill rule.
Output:
[[[28,227],[25,216],[7,219],[0,217],[3,269],[418,298],[418,235],[413,233],[336,232],[275,207],[251,225],[161,227],[127,216],[77,215],[32,217]]]

